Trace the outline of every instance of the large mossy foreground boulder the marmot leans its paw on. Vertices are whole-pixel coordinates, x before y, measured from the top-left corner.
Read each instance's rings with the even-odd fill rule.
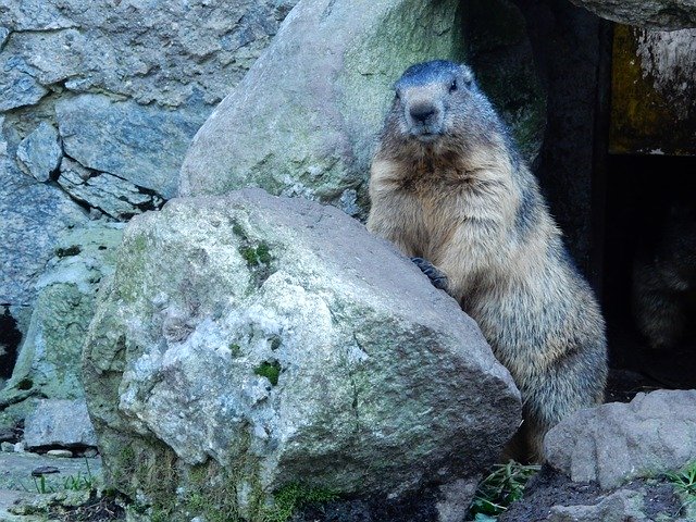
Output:
[[[200,514],[189,500],[215,480],[248,514],[288,483],[471,481],[519,422],[473,321],[331,207],[258,189],[171,201],[130,222],[100,296],[90,414],[111,480],[157,509],[181,486],[177,512]]]

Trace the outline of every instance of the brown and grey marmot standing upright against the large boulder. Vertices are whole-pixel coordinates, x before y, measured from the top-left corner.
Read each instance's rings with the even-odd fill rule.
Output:
[[[415,258],[478,323],[523,398],[507,453],[539,461],[550,427],[604,399],[599,307],[471,70],[420,63],[395,90],[372,162],[368,228]]]

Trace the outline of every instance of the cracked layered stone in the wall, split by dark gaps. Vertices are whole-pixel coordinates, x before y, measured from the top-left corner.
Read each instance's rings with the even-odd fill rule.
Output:
[[[159,209],[164,202],[157,194],[138,188],[126,179],[105,172],[89,171],[69,159],[61,163],[58,184],[73,198],[87,203],[100,214],[105,213],[121,221],[146,210]]]

